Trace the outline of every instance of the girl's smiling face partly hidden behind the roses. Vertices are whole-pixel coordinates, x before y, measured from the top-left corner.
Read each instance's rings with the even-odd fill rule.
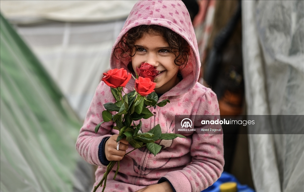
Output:
[[[140,68],[142,63],[149,63],[159,71],[154,81],[156,93],[165,93],[179,82],[177,77],[179,67],[174,64],[175,56],[168,51],[168,42],[161,35],[145,33],[134,44],[137,49],[132,57],[134,71],[136,67]],[[134,52],[135,48],[133,48],[133,54]]]

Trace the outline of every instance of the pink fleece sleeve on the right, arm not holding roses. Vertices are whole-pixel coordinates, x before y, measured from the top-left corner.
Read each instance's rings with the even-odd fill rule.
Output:
[[[207,89],[198,105],[197,115],[219,116],[219,104],[216,94],[211,89]],[[221,125],[211,127],[221,129]],[[198,124],[196,128],[206,127]],[[190,153],[192,163],[182,170],[172,171],[164,176],[176,191],[202,191],[220,177],[224,167],[223,132],[193,134]]]

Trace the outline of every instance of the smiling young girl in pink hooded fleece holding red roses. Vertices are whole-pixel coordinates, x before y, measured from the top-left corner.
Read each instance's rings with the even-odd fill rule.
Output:
[[[160,124],[162,133],[174,133],[175,115],[219,115],[216,95],[197,82],[198,46],[183,2],[138,1],[134,5],[113,46],[110,66],[134,73],[142,63],[157,68],[154,90],[160,100],[170,100],[164,107],[150,108],[154,116],[142,119],[142,132]],[[124,92],[132,91],[132,86],[131,78]],[[109,173],[106,191],[202,191],[220,177],[224,166],[222,134],[193,132],[185,135],[187,139],[157,141],[162,149],[155,157],[145,147],[123,157],[133,147],[121,140],[116,149],[118,132],[112,129],[113,123],[103,123],[98,133],[94,131],[107,102],[115,100],[110,87],[101,81],[76,143],[79,154],[98,165],[94,186],[111,160],[120,160],[120,168],[115,180],[116,166]],[[201,122],[193,123],[202,127]]]

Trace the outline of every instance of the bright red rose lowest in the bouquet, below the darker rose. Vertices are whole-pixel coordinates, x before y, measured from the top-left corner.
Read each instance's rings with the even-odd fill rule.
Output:
[[[149,95],[154,91],[156,83],[152,82],[149,78],[138,77],[135,79],[135,91],[141,96]]]

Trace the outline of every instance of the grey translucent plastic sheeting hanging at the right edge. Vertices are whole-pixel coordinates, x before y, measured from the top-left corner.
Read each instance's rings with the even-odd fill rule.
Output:
[[[304,2],[242,1],[247,114],[304,114]],[[278,122],[288,129],[288,122]],[[269,120],[261,129],[280,133]],[[304,136],[249,135],[257,191],[304,191]]]

